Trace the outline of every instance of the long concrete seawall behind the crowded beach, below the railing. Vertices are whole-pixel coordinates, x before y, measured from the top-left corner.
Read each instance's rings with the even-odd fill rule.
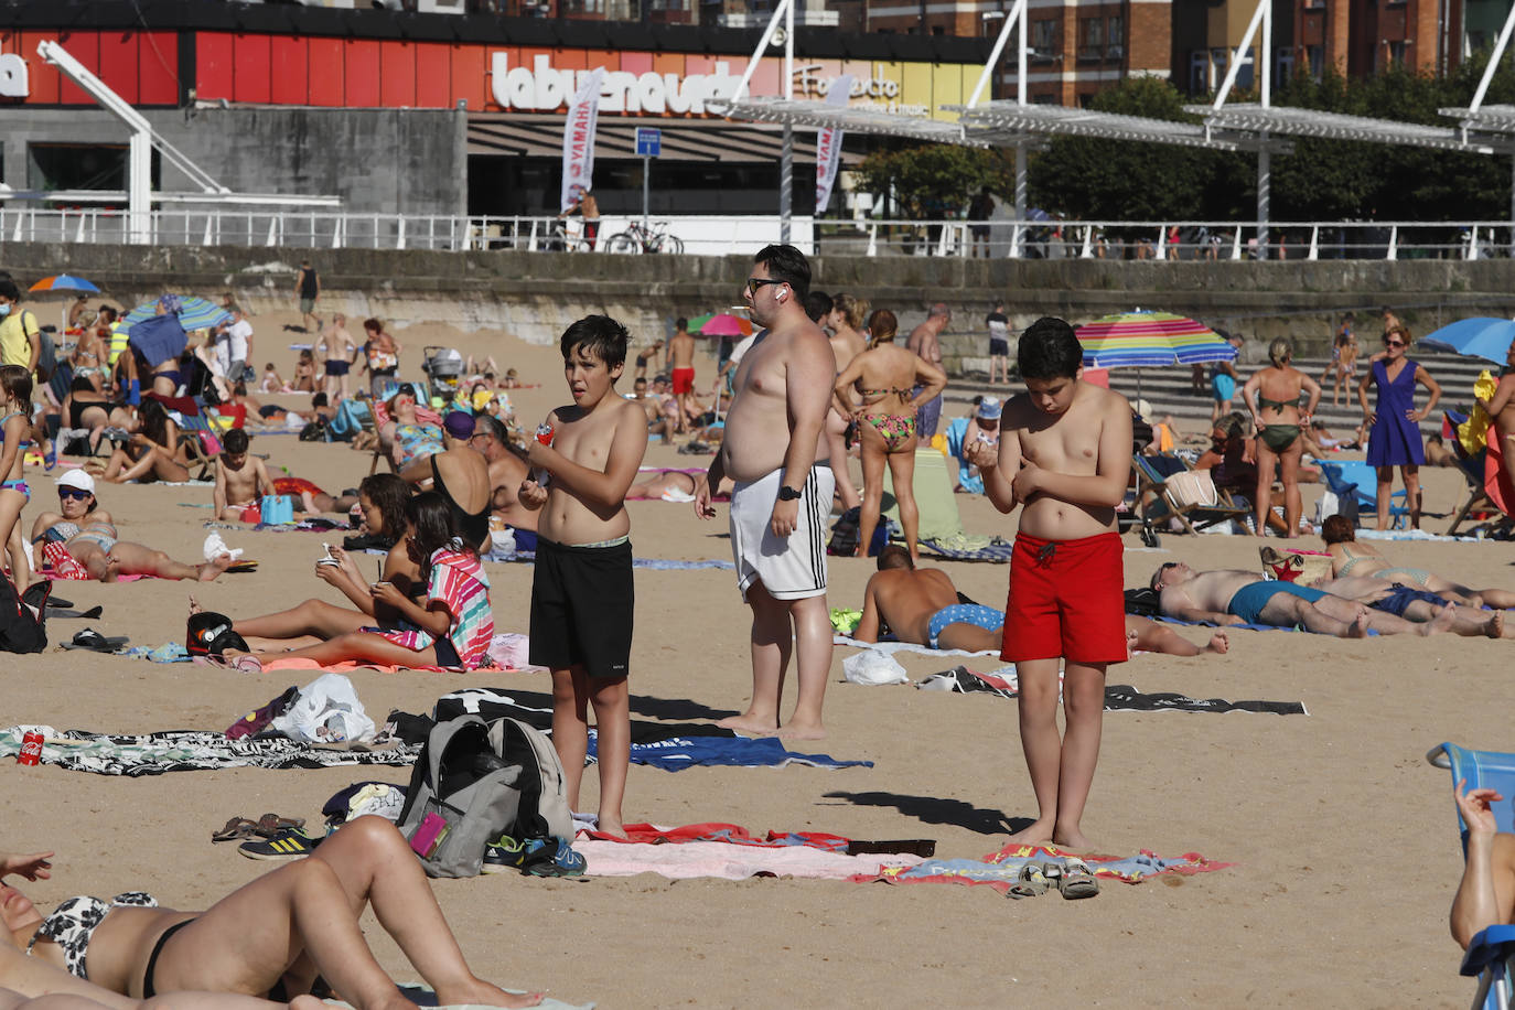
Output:
[[[255,313],[294,304],[294,273],[309,257],[321,273],[321,310],[377,315],[462,330],[503,329],[547,344],[568,323],[604,312],[633,335],[662,333],[673,316],[741,304],[747,257],[608,256],[583,253],[436,253],[185,245],[0,245],[0,268],[24,288],[67,270],[106,297],[136,304],[162,291],[218,297],[232,291]],[[1248,336],[1248,359],[1274,336],[1300,354],[1327,350],[1342,312],[1376,316],[1394,306],[1417,335],[1470,315],[1515,312],[1515,260],[1115,262],[973,260],[927,256],[812,260],[815,286],[868,298],[903,330],[933,301],[953,309],[942,344],[948,369],[983,369],[983,316],[1004,298],[1017,327],[1041,315],[1074,323],[1133,307],[1192,315]],[[1374,332],[1374,321],[1359,324]]]

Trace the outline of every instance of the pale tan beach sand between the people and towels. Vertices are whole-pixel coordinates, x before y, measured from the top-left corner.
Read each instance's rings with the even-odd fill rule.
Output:
[[[288,318],[285,318],[288,316]],[[295,321],[259,316],[256,353]],[[409,348],[447,342],[488,350],[536,389],[517,394],[530,426],[564,400],[554,348],[500,333],[456,335],[411,327]],[[283,339],[282,336],[279,338]],[[282,347],[282,345],[280,345]],[[274,354],[285,374],[294,354]],[[417,359],[408,351],[406,365]],[[709,362],[700,362],[703,385]],[[629,382],[623,386],[629,388]],[[288,398],[295,403],[297,398]],[[255,439],[294,474],[329,489],[356,485],[368,454],[292,436]],[[701,457],[648,448],[648,463],[701,465]],[[1462,480],[1427,472],[1427,507],[1447,512]],[[853,474],[857,475],[856,462]],[[36,474],[24,522],[53,501]],[[121,535],[197,556],[211,491],[124,486],[102,491]],[[1014,533],[1014,518],[982,498],[959,497],[971,531]],[[638,556],[729,557],[724,509],[698,522],[692,507],[632,503]],[[1442,528],[1444,519],[1429,519]],[[180,639],[191,594],[209,609],[261,613],[306,597],[330,598],[312,575],[320,536],[233,533],[262,562],[256,574],[215,584],[67,583],[89,622],[133,644]],[[1304,541],[1318,547],[1318,541]],[[1165,536],[1160,550],[1127,538],[1127,584],[1170,559],[1200,568],[1256,565],[1256,541]],[[1388,544],[1398,562],[1454,572],[1474,586],[1515,586],[1507,544]],[[944,563],[959,589],[998,603],[1003,565]],[[871,572],[832,562],[832,606],[861,606]],[[491,566],[501,631],[526,631],[532,569]],[[638,571],[632,654],[633,715],[709,719],[738,712],[750,690],[748,615],[730,571]],[[55,642],[85,622],[55,621]],[[1203,642],[1207,631],[1186,630]],[[753,831],[814,830],[857,839],[932,837],[938,854],[982,857],[1000,848],[1004,822],[1035,813],[1014,701],[861,687],[832,662],[824,750],[868,759],[871,769],[689,769],[633,766],[629,821],[677,825],[735,822]],[[768,1005],[1450,1005],[1471,984],[1445,928],[1460,857],[1442,771],[1429,747],[1456,740],[1509,745],[1509,642],[1457,637],[1336,641],[1301,633],[1235,631],[1224,657],[1141,656],[1112,669],[1117,683],[1230,700],[1298,700],[1309,716],[1109,713],[1085,830],[1098,849],[1165,856],[1201,853],[1233,868],[1106,884],[1092,901],[1056,895],[1011,902],[988,887],[886,886],[759,878],[741,883],[661,877],[533,880],[494,875],[436,881],[462,946],[482,975],[547,987],[608,1008]],[[901,657],[912,677],[956,659]],[[988,657],[976,665],[989,669]],[[148,731],[221,730],[295,678],[195,665],[152,665],[89,653],[48,651],[0,663],[0,724]],[[353,675],[368,710],[427,712],[465,684],[545,690],[545,674]],[[0,846],[58,851],[52,881],[27,887],[39,904],[76,893],[145,889],[170,906],[198,909],[268,865],[242,859],[209,834],[229,816],[273,810],[320,822],[320,807],[361,778],[405,783],[409,769],[180,772],[108,778],[58,768],[0,766],[11,815]],[[580,806],[592,809],[597,777]],[[397,978],[414,978],[373,918],[365,928]]]

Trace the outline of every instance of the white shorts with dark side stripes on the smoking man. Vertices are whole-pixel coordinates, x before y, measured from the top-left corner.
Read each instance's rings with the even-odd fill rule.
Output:
[[[836,477],[826,463],[811,468],[800,488],[798,518],[786,539],[773,535],[773,506],[779,500],[783,468],[732,491],[732,554],[736,559],[736,588],[747,589],[762,580],[774,600],[804,600],[826,595],[827,518]]]

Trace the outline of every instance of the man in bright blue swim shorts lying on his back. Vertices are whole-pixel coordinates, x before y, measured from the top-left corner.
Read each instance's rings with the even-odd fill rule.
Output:
[[[1160,594],[1162,612],[1182,621],[1303,627],[1336,637],[1365,637],[1368,628],[1379,634],[1438,634],[1451,630],[1457,616],[1456,606],[1448,604],[1430,622],[1415,625],[1324,589],[1264,580],[1257,572],[1238,569],[1198,572],[1183,562],[1157,568],[1151,588]]]

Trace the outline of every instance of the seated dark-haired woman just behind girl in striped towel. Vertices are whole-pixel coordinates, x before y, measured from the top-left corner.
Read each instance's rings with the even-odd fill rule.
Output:
[[[358,506],[364,512],[365,525],[394,542],[380,578],[414,598],[417,592],[426,592],[426,580],[421,578],[421,566],[411,560],[405,542],[405,506],[409,500],[409,485],[394,474],[373,474],[358,485]],[[362,574],[356,557],[339,547],[332,548],[332,556],[336,563],[318,562],[315,577],[347,597],[348,606],[306,600],[289,610],[233,621],[232,630],[253,648],[276,648],[274,642],[286,645],[297,639],[298,645],[314,645],[365,627],[406,627],[398,610],[374,598],[373,583]]]

